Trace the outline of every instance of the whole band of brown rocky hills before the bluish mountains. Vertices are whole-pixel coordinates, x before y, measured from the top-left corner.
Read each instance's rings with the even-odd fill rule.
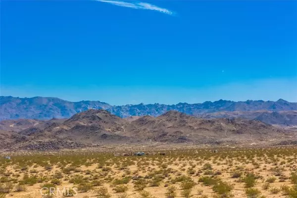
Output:
[[[178,111],[153,117],[123,119],[102,109],[89,109],[19,132],[0,131],[1,149],[59,149],[102,145],[161,143],[194,145],[280,144],[296,133],[242,118],[201,119]],[[47,124],[45,124],[47,123]]]

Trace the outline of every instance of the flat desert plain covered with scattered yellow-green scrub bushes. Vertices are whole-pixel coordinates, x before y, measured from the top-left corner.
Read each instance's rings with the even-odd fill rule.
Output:
[[[73,186],[98,198],[297,198],[296,159],[297,148],[15,156],[0,159],[0,194],[23,198],[32,189]]]

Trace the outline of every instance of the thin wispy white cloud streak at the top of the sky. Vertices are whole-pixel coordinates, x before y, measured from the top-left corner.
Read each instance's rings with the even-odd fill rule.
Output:
[[[122,7],[130,7],[134,9],[149,9],[149,10],[155,10],[169,15],[173,14],[172,11],[166,8],[158,7],[156,5],[152,5],[150,3],[145,3],[145,2],[125,2],[125,1],[118,1],[118,0],[97,0],[97,1],[106,2],[106,3],[110,3],[113,5],[118,5]]]

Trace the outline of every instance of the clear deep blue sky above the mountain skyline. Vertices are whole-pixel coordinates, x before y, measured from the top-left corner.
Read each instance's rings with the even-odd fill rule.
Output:
[[[0,6],[2,96],[111,104],[297,101],[294,0]]]

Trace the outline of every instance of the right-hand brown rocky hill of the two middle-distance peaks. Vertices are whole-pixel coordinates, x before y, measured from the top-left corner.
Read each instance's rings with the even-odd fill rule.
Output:
[[[284,131],[257,120],[200,119],[178,111],[144,116],[127,126],[129,134],[157,142],[220,144],[282,138]]]

